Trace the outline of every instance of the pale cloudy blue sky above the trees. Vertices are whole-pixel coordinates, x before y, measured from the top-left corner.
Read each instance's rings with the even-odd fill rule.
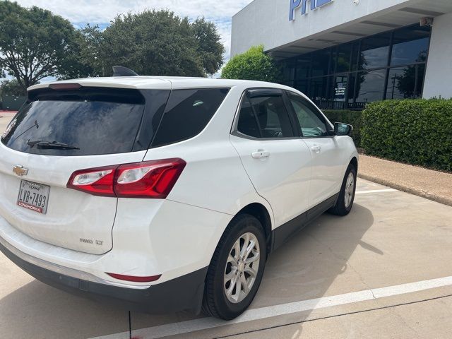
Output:
[[[145,9],[169,9],[191,19],[204,16],[213,21],[225,44],[225,60],[230,58],[231,18],[252,0],[16,0],[24,7],[38,6],[62,16],[76,27],[86,23],[100,28],[121,13],[138,13]]]

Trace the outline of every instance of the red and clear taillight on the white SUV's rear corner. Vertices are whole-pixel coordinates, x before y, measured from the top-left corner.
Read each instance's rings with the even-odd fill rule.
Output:
[[[71,175],[67,187],[95,196],[164,199],[185,165],[174,158],[83,169]]]

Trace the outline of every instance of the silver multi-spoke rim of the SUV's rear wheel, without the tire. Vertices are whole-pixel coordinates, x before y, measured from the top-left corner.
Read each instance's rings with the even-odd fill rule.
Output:
[[[227,299],[233,304],[242,302],[253,287],[261,261],[261,251],[256,236],[242,234],[232,246],[227,257],[223,286]]]

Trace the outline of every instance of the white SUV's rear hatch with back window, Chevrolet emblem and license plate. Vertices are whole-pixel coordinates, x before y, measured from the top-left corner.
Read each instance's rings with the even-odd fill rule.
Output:
[[[112,249],[117,198],[69,189],[81,169],[140,162],[169,90],[56,85],[29,100],[0,142],[0,215],[66,249]]]

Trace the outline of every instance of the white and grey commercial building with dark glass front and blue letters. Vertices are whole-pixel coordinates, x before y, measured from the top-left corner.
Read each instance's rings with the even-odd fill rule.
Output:
[[[452,97],[452,0],[254,0],[232,18],[232,56],[258,44],[324,109]]]

